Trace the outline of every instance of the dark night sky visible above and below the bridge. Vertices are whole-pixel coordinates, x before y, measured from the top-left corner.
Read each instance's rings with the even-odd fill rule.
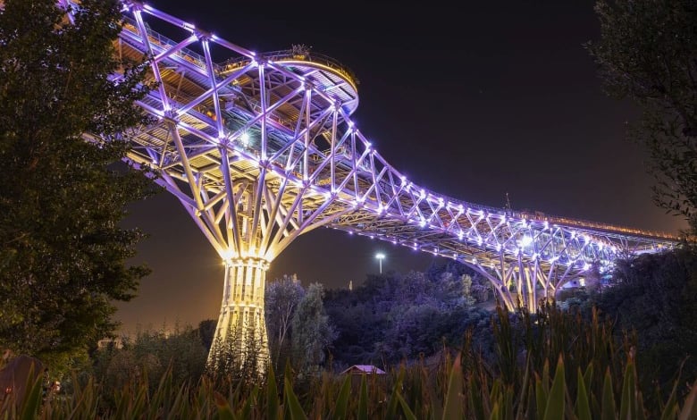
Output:
[[[149,4],[257,53],[305,44],[348,66],[360,81],[357,127],[424,188],[486,206],[504,206],[508,192],[515,209],[684,227],[652,204],[642,149],[625,139],[638,112],[602,93],[583,48],[600,33],[591,1]],[[137,260],[153,273],[119,305],[123,331],[217,318],[223,265],[181,205],[163,193],[132,206],[127,222],[150,233]],[[276,258],[267,281],[297,273],[306,285],[356,284],[377,273],[378,251],[384,271],[433,262],[321,229]]]

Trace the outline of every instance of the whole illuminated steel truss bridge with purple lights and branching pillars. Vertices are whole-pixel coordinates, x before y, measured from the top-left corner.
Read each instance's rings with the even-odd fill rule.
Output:
[[[123,16],[116,53],[148,58],[157,83],[139,101],[155,122],[126,133],[128,157],[159,173],[156,182],[223,259],[216,336],[251,331],[236,334],[234,346],[242,358],[254,347],[262,370],[265,273],[294,239],[320,227],[452,258],[491,281],[508,309],[531,311],[619,257],[678,243],[419,187],[351,121],[357,79],[332,58],[303,46],[257,54],[147,4],[125,2]]]

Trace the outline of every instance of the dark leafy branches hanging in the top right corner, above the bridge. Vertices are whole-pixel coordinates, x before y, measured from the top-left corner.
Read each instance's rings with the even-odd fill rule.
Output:
[[[585,47],[610,97],[641,106],[630,136],[648,147],[654,200],[697,230],[697,3],[599,0]]]

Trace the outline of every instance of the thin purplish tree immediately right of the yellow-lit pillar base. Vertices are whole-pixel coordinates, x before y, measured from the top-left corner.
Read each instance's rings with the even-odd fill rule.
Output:
[[[287,353],[286,338],[290,332],[290,322],[295,315],[296,307],[305,296],[305,289],[298,278],[283,276],[282,279],[270,282],[265,290],[265,319],[266,332],[269,334],[269,352],[277,372],[281,372],[281,354]]]

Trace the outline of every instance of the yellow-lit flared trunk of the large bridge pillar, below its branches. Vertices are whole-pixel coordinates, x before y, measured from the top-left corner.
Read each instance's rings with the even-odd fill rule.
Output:
[[[223,307],[208,353],[216,374],[263,375],[269,359],[264,290],[269,263],[239,258],[225,263]]]

